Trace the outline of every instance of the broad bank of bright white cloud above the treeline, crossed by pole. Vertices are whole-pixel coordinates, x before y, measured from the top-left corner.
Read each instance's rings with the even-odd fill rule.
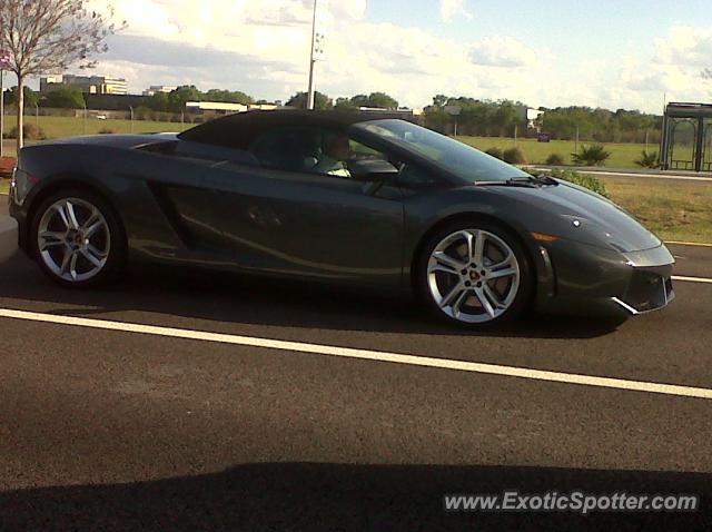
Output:
[[[98,7],[110,0],[92,0]],[[313,0],[122,0],[129,27],[109,41],[98,73],[122,76],[131,91],[196,85],[286,100],[306,90]],[[383,90],[423,107],[436,93],[514,99],[534,107],[587,105],[660,111],[669,99],[704,101],[712,80],[712,30],[675,26],[635,57],[566,63],[565,52],[514,36],[454,40],[366,19],[366,0],[318,0],[327,29],[317,89],[332,97]],[[441,2],[449,20],[467,6]]]

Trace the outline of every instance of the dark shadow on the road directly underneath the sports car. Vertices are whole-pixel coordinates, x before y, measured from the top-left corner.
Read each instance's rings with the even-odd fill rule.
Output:
[[[76,292],[56,286],[22,256],[0,266],[0,296],[49,303],[52,313],[85,317],[139,311],[234,324],[424,335],[592,338],[622,324],[532,314],[473,333],[434,319],[404,294],[187,268],[132,269],[119,284]]]

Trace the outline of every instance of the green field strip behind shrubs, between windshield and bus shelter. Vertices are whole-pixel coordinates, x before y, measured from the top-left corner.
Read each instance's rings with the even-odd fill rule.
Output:
[[[457,140],[474,146],[477,149],[486,151],[490,148],[507,149],[514,147],[514,139],[502,137],[457,137]],[[596,142],[578,142],[578,147],[583,144],[591,145]],[[575,151],[575,142],[573,140],[552,140],[551,142],[537,142],[536,139],[518,139],[517,147],[522,149],[526,161],[531,165],[543,165],[546,158],[552,154],[558,154],[564,158],[566,164],[572,164],[571,154]],[[641,151],[645,149],[644,144],[605,144],[611,157],[606,160],[605,166],[612,168],[635,168],[635,159],[639,159]],[[647,146],[649,151],[657,151],[659,146],[651,144]],[[682,157],[682,154],[675,154]]]

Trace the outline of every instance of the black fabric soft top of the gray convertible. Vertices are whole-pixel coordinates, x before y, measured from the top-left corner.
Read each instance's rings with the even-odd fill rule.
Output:
[[[303,111],[297,109],[255,110],[211,120],[184,131],[178,138],[191,142],[248,149],[257,136],[275,127],[322,126],[345,129],[354,124],[385,118],[402,117],[393,112]]]

